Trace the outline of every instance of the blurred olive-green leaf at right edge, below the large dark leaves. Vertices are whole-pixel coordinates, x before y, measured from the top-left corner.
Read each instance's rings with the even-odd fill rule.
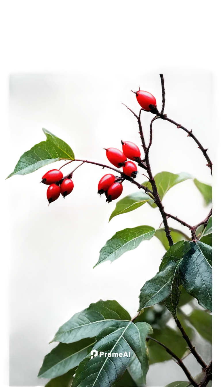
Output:
[[[204,310],[194,310],[190,322],[204,339],[212,342],[212,315]]]

